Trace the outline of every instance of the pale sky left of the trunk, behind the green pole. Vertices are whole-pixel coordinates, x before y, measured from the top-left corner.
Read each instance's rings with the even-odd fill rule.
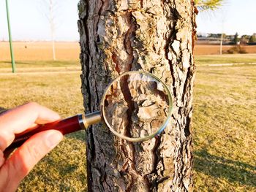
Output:
[[[9,0],[13,40],[50,40],[50,24],[42,2],[45,0]],[[78,0],[56,0],[56,39],[75,41],[78,34]],[[0,41],[8,39],[5,0],[0,0]]]

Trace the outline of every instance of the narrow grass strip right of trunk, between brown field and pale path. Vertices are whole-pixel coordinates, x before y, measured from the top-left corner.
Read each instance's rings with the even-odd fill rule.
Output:
[[[197,65],[256,63],[256,54],[195,55]]]

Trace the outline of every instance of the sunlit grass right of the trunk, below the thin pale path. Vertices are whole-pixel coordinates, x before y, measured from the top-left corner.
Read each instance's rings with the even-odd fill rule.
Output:
[[[256,191],[256,66],[197,67],[195,191]]]

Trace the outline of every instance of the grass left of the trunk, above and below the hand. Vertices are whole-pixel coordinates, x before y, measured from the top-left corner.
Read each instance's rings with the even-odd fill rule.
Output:
[[[0,93],[0,107],[5,109],[36,101],[63,118],[83,112],[79,71],[0,74]],[[34,167],[18,191],[86,191],[85,137],[84,131],[69,134]]]

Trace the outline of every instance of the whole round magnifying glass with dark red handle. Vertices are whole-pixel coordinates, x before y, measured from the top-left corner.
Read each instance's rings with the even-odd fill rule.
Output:
[[[148,72],[124,72],[106,88],[100,111],[75,115],[17,134],[7,149],[19,147],[40,131],[56,129],[69,134],[102,121],[117,137],[143,142],[164,130],[172,109],[173,99],[165,82]]]

